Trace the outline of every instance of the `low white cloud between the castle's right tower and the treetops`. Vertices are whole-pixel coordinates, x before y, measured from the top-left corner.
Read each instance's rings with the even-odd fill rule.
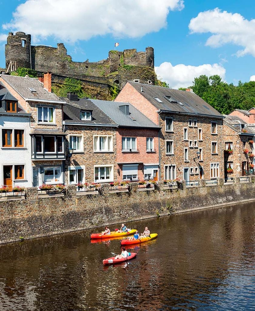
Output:
[[[191,86],[194,78],[200,75],[208,77],[219,75],[224,80],[226,72],[225,68],[219,64],[203,64],[200,66],[178,64],[173,66],[167,62],[162,63],[159,67],[155,67],[155,71],[158,77],[166,81],[174,89]]]

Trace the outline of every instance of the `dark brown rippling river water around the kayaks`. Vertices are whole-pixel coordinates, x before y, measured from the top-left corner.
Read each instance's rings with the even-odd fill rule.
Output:
[[[254,203],[128,226],[145,225],[158,238],[106,268],[120,243],[94,230],[1,245],[0,310],[255,310]]]

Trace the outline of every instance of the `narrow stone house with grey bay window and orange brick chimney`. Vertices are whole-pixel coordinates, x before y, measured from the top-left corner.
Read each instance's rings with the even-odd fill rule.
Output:
[[[51,93],[51,74],[44,84],[30,77],[0,75],[2,85],[31,115],[31,165],[33,185],[64,182],[65,133],[62,131],[64,101]]]

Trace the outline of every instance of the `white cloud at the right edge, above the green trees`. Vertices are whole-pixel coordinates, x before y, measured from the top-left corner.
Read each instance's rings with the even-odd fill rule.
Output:
[[[231,43],[244,47],[237,56],[252,54],[255,57],[255,19],[248,21],[239,13],[221,11],[219,8],[200,12],[189,23],[191,33],[211,33],[206,45],[219,47]]]

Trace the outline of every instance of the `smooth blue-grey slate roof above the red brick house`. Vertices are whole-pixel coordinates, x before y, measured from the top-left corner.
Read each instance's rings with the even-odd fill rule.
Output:
[[[148,119],[144,114],[137,110],[130,103],[107,101],[107,100],[91,100],[105,114],[114,120],[119,126],[138,127],[138,128],[159,128],[155,123]],[[124,114],[119,106],[128,105],[129,115]],[[132,118],[130,118],[132,117]]]

